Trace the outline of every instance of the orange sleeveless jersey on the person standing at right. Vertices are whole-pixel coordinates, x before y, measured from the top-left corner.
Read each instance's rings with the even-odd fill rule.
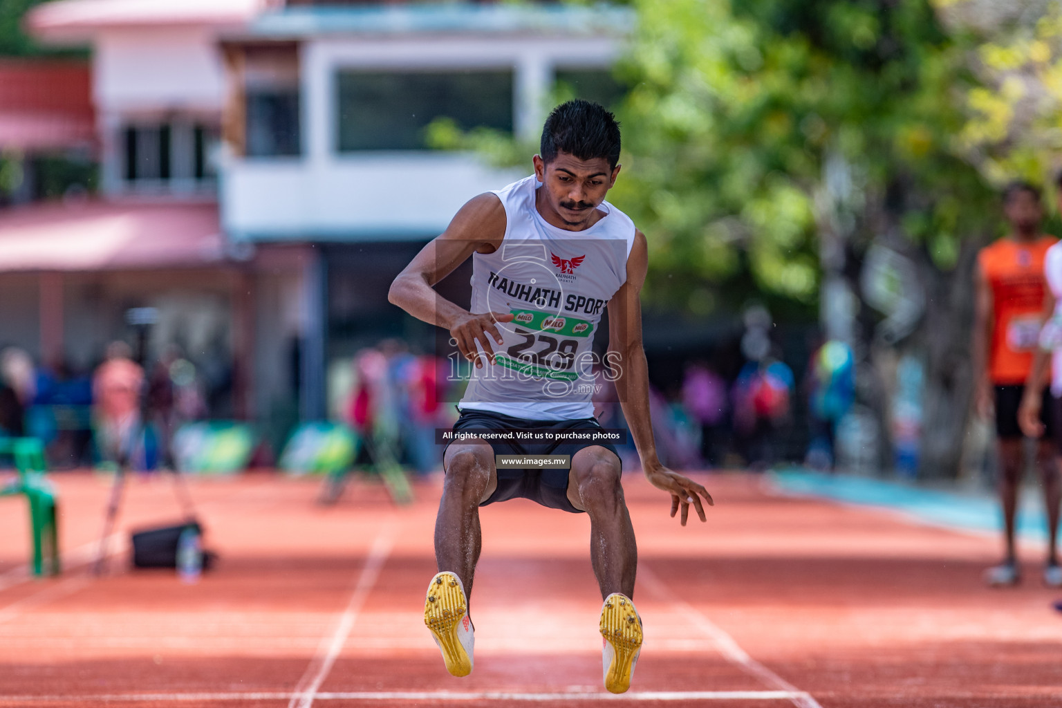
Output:
[[[1025,383],[1032,367],[1044,307],[1044,255],[1056,241],[1052,236],[1029,244],[1003,239],[977,256],[978,267],[992,289],[995,316],[989,377],[996,385]]]

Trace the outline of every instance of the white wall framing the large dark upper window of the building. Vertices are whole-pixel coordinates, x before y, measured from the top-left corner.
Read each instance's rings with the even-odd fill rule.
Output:
[[[222,167],[222,225],[234,238],[380,239],[436,235],[466,201],[531,174],[490,168],[474,155],[339,153],[336,75],[346,68],[512,67],[515,131],[535,139],[553,69],[609,67],[612,37],[328,37],[299,56],[303,156],[234,158]]]

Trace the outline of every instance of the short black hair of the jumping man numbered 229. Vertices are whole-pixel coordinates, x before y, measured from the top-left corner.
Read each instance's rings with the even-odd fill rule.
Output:
[[[619,161],[619,122],[596,103],[583,99],[562,103],[546,119],[538,155],[544,162],[550,162],[558,153],[581,160],[603,157],[615,169]]]

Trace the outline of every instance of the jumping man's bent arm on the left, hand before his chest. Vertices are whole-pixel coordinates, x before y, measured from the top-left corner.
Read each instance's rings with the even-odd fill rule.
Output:
[[[510,313],[483,312],[473,314],[446,299],[434,284],[465,262],[474,252],[493,253],[506,236],[506,208],[496,194],[490,192],[469,200],[453,217],[446,230],[421,249],[409,265],[391,283],[388,300],[417,320],[449,330],[461,355],[476,357],[478,341],[494,361],[494,350],[487,334],[501,344],[501,334],[494,323],[509,322]]]

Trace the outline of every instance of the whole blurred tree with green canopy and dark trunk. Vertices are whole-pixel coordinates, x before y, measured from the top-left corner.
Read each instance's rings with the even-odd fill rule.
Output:
[[[1000,183],[1027,173],[1023,163],[1059,135],[1058,110],[1023,114],[1014,105],[1026,94],[1007,88],[1013,73],[984,68],[1032,63],[1051,85],[1044,49],[1020,32],[989,46],[998,22],[981,34],[944,24],[929,0],[633,5],[636,35],[619,67],[632,86],[621,108],[628,174],[614,198],[650,238],[650,297],[692,310],[708,293],[805,306],[829,293],[830,308],[852,311],[857,397],[877,420],[880,463],[890,464],[889,400],[907,353],[925,372],[922,473],[955,474],[970,410],[973,257],[1001,230]],[[1043,37],[1054,25],[1032,27],[1054,55]],[[1008,110],[1037,118],[1006,122]],[[1032,149],[1022,148],[1023,125],[1039,128]],[[883,272],[890,259],[900,270]],[[910,326],[896,327],[905,317]]]

